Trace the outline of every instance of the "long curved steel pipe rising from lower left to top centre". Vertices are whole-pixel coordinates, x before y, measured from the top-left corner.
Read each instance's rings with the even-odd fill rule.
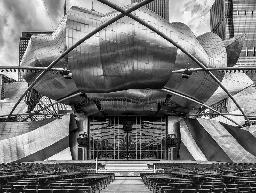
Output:
[[[145,0],[142,1],[134,6],[132,6],[131,8],[127,9],[125,11],[125,13],[120,13],[117,16],[115,16],[114,18],[108,20],[106,23],[100,25],[98,28],[96,28],[95,30],[93,30],[92,32],[88,33],[86,36],[84,36],[82,39],[80,39],[79,41],[77,41],[74,45],[72,45],[71,47],[69,47],[63,54],[61,54],[58,58],[56,58],[47,68],[46,70],[44,70],[37,78],[36,80],[34,80],[28,87],[28,89],[21,95],[21,97],[19,98],[19,100],[16,102],[16,104],[13,106],[9,116],[5,119],[5,122],[7,122],[9,120],[9,118],[12,116],[13,111],[16,109],[16,107],[18,106],[18,104],[20,103],[20,101],[22,100],[23,97],[25,97],[26,93],[33,88],[33,86],[36,84],[36,82],[38,82],[43,75],[46,74],[46,72],[48,72],[48,70],[50,70],[58,61],[60,61],[60,59],[62,59],[65,55],[67,55],[69,52],[71,52],[74,48],[76,48],[77,46],[79,46],[80,44],[82,44],[85,40],[89,39],[90,37],[92,37],[94,34],[100,32],[101,30],[103,30],[105,27],[107,27],[108,25],[114,23],[115,21],[117,21],[118,19],[123,18],[125,15],[131,13],[132,11],[135,11],[136,9],[142,7],[143,5],[146,5],[148,3],[150,3],[153,0]]]

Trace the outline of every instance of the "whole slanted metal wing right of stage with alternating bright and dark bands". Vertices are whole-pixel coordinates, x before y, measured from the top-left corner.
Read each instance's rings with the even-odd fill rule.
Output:
[[[252,147],[256,144],[255,125],[237,128],[215,120],[186,118],[180,119],[180,132],[182,143],[195,160],[205,156],[208,161],[256,161]]]

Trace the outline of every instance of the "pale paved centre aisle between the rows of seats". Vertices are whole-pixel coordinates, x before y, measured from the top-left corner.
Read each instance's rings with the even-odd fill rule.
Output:
[[[148,187],[140,181],[140,177],[115,177],[115,180],[111,182],[102,193],[140,193],[150,192]],[[152,193],[152,192],[151,192]]]

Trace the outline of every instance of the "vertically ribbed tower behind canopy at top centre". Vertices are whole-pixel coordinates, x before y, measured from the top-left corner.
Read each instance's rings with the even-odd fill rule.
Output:
[[[141,1],[143,0],[131,0],[131,3]],[[169,21],[169,0],[155,0],[146,4],[145,7]]]

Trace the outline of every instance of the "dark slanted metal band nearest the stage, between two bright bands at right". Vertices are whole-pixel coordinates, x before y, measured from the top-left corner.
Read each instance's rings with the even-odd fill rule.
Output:
[[[213,136],[199,123],[198,118],[184,118],[184,121],[197,146],[204,153],[205,157],[207,157],[208,161],[233,162],[220,147],[221,144],[218,144],[213,139]]]

